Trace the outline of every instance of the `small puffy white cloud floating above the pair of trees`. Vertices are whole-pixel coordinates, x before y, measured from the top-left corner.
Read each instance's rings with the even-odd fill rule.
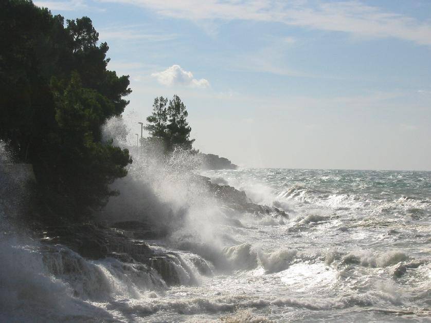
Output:
[[[179,65],[172,65],[166,70],[152,73],[152,77],[156,78],[160,84],[171,85],[185,85],[191,87],[205,88],[209,87],[209,82],[206,79],[197,80],[193,78],[193,73],[188,72],[181,68]]]

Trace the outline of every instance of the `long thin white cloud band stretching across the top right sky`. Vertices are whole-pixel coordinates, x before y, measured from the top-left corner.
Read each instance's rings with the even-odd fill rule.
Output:
[[[431,45],[431,23],[386,12],[360,1],[283,0],[100,0],[150,8],[160,15],[192,21],[251,20],[279,22],[318,30],[376,38],[394,37]]]

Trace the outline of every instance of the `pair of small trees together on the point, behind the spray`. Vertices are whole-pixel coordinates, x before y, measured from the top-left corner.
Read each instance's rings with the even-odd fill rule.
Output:
[[[169,105],[167,98],[155,98],[153,113],[147,118],[149,140],[160,142],[168,152],[175,147],[191,149],[194,139],[190,139],[191,127],[187,116],[186,106],[178,96],[173,96]]]

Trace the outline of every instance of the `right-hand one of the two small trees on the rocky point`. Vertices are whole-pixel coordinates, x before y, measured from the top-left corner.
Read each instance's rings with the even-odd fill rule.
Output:
[[[169,124],[167,125],[168,149],[172,150],[175,146],[184,149],[191,149],[194,139],[189,140],[191,127],[186,118],[188,112],[186,106],[178,96],[173,96],[168,106]]]

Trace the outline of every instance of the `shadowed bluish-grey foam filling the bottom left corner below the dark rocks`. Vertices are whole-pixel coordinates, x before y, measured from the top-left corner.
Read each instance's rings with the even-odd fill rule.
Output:
[[[40,246],[27,242],[0,237],[0,321],[112,319],[105,310],[77,298],[70,284],[47,271]]]

